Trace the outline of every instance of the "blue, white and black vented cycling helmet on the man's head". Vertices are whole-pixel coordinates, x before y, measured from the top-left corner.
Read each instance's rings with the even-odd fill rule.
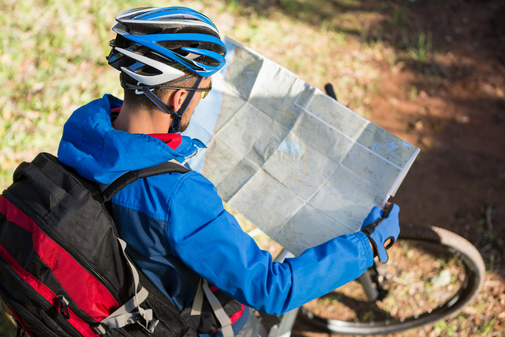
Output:
[[[219,31],[203,14],[185,7],[143,7],[116,16],[111,66],[157,86],[189,71],[211,76],[225,64],[226,47]]]

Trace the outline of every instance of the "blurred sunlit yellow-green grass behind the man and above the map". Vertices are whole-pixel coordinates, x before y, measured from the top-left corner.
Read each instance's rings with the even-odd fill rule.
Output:
[[[114,16],[126,9],[159,4],[153,0],[0,0],[0,188],[12,183],[20,162],[30,161],[41,151],[57,153],[63,125],[76,108],[105,93],[122,97],[119,72],[105,59],[107,43],[115,35],[111,31]],[[323,89],[331,82],[339,101],[365,117],[382,74],[398,61],[419,67],[437,57],[431,32],[410,32],[406,28],[409,10],[389,2],[163,2],[163,6],[173,5],[206,13],[221,33],[316,87]],[[387,25],[395,27],[397,42],[387,37]],[[412,86],[410,98],[416,100],[417,95]],[[505,179],[505,173],[499,177]],[[255,228],[230,212],[245,231]],[[280,246],[257,233],[258,245],[275,256]],[[478,306],[484,310],[485,299],[479,298]],[[1,317],[0,336],[14,335],[6,332],[12,322]],[[469,331],[471,326],[477,326],[481,335],[497,331],[495,322],[473,324],[475,317],[478,315],[460,314],[435,325],[433,335]]]

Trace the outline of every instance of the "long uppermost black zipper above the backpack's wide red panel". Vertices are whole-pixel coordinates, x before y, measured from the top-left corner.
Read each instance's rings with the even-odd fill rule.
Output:
[[[23,213],[32,218],[35,223],[42,229],[42,231],[51,237],[58,245],[63,247],[70,255],[72,255],[81,265],[83,265],[91,274],[102,283],[109,293],[114,297],[118,305],[121,307],[125,302],[122,300],[116,288],[111,284],[111,282],[100,273],[95,266],[93,266],[85,257],[83,257],[79,252],[77,252],[73,247],[67,244],[62,236],[53,230],[51,226],[47,225],[38,214],[32,212],[30,209],[25,207],[11,192],[4,190],[3,195],[9,200],[14,206],[19,208]]]

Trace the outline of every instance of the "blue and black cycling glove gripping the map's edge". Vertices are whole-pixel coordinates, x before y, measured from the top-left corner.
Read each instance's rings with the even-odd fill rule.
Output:
[[[389,208],[385,212],[379,206],[375,206],[361,226],[361,231],[370,239],[381,263],[387,262],[386,249],[391,248],[400,233],[400,226],[398,224],[399,212],[400,208],[396,204],[389,205]],[[384,247],[384,243],[389,238],[391,239],[391,243],[387,247]]]

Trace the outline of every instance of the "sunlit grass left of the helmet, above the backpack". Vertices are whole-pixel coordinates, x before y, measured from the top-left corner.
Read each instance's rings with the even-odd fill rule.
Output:
[[[120,90],[110,81],[116,74],[106,69],[106,52],[94,31],[100,11],[89,2],[4,1],[1,6],[0,184],[6,187],[19,162],[40,151],[56,153],[73,110]]]

